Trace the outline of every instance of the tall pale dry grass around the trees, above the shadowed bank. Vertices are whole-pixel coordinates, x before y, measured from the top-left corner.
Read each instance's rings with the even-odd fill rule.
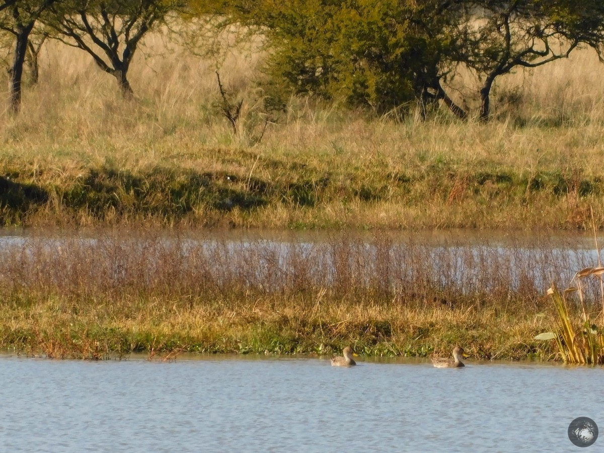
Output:
[[[2,114],[4,149],[60,164],[114,158],[125,159],[126,165],[144,165],[178,157],[184,165],[197,165],[214,160],[216,156],[208,155],[211,150],[246,147],[246,137],[233,137],[225,118],[212,108],[219,100],[214,71],[219,69],[226,88],[244,99],[245,117],[257,108],[255,101],[262,94],[254,86],[260,54],[233,50],[224,61],[204,60],[187,50],[165,47],[158,35],[150,36],[144,49],[148,56],[138,54],[131,69],[140,101],[129,104],[121,100],[115,80],[87,54],[48,42],[40,56],[40,83],[26,89],[23,114],[18,118]],[[602,159],[597,139],[604,120],[600,72],[596,55],[579,50],[569,60],[501,77],[493,98],[519,89],[522,99],[513,106],[511,120],[487,125],[417,118],[401,124],[339,106],[292,100],[286,116],[270,127],[254,150],[361,165],[374,159],[394,164],[411,156],[427,162],[439,156],[486,160],[528,171],[597,164]],[[463,85],[476,86],[471,79]],[[496,115],[506,109],[504,102],[495,101],[493,107]],[[527,126],[515,127],[515,117],[523,118]],[[531,122],[538,119],[542,122]],[[547,127],[557,121],[568,127]]]

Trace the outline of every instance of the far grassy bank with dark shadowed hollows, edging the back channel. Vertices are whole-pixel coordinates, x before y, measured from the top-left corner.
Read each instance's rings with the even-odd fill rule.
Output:
[[[592,206],[604,225],[604,174],[597,170],[199,154],[206,152],[228,162],[133,170],[97,162],[77,174],[4,162],[0,219],[29,226],[576,229],[588,228]]]

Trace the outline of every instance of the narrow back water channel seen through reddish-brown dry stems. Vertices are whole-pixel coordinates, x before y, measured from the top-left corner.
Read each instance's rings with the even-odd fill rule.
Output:
[[[552,281],[567,288],[577,271],[599,262],[594,239],[586,234],[474,230],[5,230],[0,231],[0,251],[5,257],[0,283],[7,286],[18,281],[64,292],[82,286],[92,292],[152,292],[154,285],[164,288],[179,279],[181,286],[202,281],[206,288],[224,289],[236,282],[276,292],[353,287],[390,294],[425,291],[420,297],[428,300],[435,291],[451,298],[489,294],[502,300],[515,293],[534,298]],[[68,288],[70,284],[78,289]],[[599,287],[594,288],[588,286],[587,298],[599,300],[591,294]]]

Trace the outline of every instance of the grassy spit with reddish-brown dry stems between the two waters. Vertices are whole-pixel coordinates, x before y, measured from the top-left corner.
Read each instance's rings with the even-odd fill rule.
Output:
[[[583,249],[387,232],[242,238],[233,232],[94,231],[2,244],[0,347],[50,357],[132,352],[542,358],[553,307]],[[460,242],[455,242],[459,240]],[[557,242],[559,245],[559,242]],[[561,272],[561,273],[560,273]],[[588,294],[588,293],[586,293]],[[588,302],[588,307],[591,307]],[[599,303],[595,304],[596,309]]]

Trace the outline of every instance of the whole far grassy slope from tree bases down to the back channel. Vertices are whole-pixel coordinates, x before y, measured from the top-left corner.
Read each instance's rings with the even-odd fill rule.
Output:
[[[0,223],[574,229],[591,205],[604,225],[604,84],[588,51],[502,79],[479,124],[296,98],[268,116],[261,54],[211,62],[147,45],[126,102],[83,53],[48,43],[22,114],[0,114]],[[237,132],[216,67],[244,100]]]

